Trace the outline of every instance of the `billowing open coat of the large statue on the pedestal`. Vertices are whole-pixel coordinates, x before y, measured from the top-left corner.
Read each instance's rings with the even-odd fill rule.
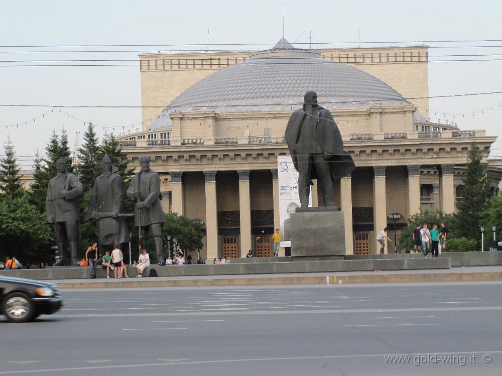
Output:
[[[340,179],[347,176],[355,169],[355,164],[352,161],[352,157],[350,157],[348,153],[343,150],[342,137],[331,112],[328,109],[317,105],[314,115],[317,116],[317,121],[315,122],[313,129],[314,140],[317,142],[323,153],[329,153],[332,155],[327,160],[328,162],[332,162],[329,164],[329,171],[332,178]],[[291,114],[286,127],[286,133],[284,135],[286,142],[288,143],[291,158],[293,159],[293,164],[297,170],[297,141],[300,127],[302,126],[305,116],[305,105],[303,105],[303,108],[299,108]],[[317,179],[315,163],[312,163],[311,165],[311,179]]]

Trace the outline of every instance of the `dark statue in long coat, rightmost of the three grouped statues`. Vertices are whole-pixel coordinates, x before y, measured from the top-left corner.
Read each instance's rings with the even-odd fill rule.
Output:
[[[148,230],[155,240],[157,262],[162,262],[162,225],[164,212],[160,206],[159,174],[150,169],[150,157],[140,157],[141,170],[131,179],[127,196],[137,200],[134,210],[134,225],[144,231],[141,247],[148,249]]]

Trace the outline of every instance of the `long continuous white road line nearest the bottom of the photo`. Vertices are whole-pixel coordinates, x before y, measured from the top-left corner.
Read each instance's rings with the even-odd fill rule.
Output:
[[[456,351],[456,352],[435,352],[437,355],[460,355],[460,354],[499,354],[502,350],[486,350],[486,351]],[[0,371],[0,374],[10,373],[42,373],[42,372],[64,372],[78,370],[93,370],[93,369],[117,369],[117,368],[140,368],[140,367],[160,367],[164,365],[192,365],[192,364],[215,364],[215,363],[238,363],[238,362],[263,362],[263,361],[278,361],[278,360],[317,360],[317,359],[343,359],[343,358],[368,358],[368,357],[384,357],[384,356],[426,356],[429,353],[402,353],[402,354],[348,354],[348,355],[317,355],[317,356],[291,356],[291,357],[275,357],[275,358],[246,358],[246,359],[215,359],[215,360],[190,360],[190,361],[171,361],[162,363],[144,363],[144,364],[115,364],[115,365],[95,365],[86,367],[65,367],[65,368],[45,368],[45,369],[30,369],[30,370],[12,370]]]

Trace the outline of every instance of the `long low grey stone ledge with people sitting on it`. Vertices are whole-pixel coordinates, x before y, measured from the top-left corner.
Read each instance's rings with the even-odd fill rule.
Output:
[[[226,265],[183,265],[158,266],[147,268],[144,275],[148,276],[150,269],[155,269],[159,277],[177,276],[217,276],[217,275],[249,275],[275,273],[324,273],[353,272],[370,270],[414,270],[414,269],[449,269],[448,258],[417,258],[417,259],[378,259],[378,260],[345,260],[345,261],[309,261],[309,262],[279,262],[279,263],[235,263]],[[23,269],[0,271],[0,275],[38,280],[60,280],[89,278],[88,267]],[[105,278],[106,272],[97,268],[98,278]],[[128,275],[136,277],[134,267],[128,267]],[[110,278],[113,272],[110,271]]]

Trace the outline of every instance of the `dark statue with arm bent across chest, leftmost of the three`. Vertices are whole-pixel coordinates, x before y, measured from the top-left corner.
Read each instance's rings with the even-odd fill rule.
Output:
[[[49,180],[47,186],[47,222],[52,223],[59,250],[59,261],[54,266],[80,265],[78,259],[78,237],[80,232],[80,213],[78,198],[84,188],[78,178],[66,171],[66,161],[56,162],[57,176]],[[71,262],[68,260],[68,248]]]

